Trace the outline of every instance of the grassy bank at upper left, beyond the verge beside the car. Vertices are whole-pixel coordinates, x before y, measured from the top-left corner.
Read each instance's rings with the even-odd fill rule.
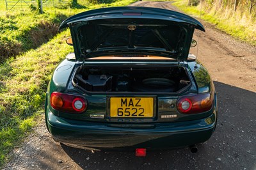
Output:
[[[28,7],[21,10],[16,8],[3,10],[4,1],[0,0],[2,7],[0,12],[0,63],[7,58],[46,43],[58,33],[60,23],[75,13],[108,6],[124,6],[127,2],[133,1],[115,1],[105,4],[90,4],[88,1],[81,1],[77,9],[70,8],[66,4],[63,9],[45,7],[44,13],[39,14],[29,10]]]

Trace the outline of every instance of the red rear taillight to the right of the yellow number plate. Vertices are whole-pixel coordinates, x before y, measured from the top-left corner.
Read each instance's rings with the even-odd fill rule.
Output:
[[[177,109],[179,112],[185,114],[206,112],[212,108],[213,98],[213,93],[180,97],[177,101]]]

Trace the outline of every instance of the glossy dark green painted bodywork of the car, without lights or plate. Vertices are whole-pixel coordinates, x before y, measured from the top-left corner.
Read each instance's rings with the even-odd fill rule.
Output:
[[[61,24],[61,28],[70,26],[75,20],[83,19],[84,15],[93,15],[93,13],[104,13],[118,9],[127,12],[135,8],[109,8],[90,11],[70,17]],[[137,10],[139,8],[136,8]],[[147,10],[147,8],[141,8]],[[151,12],[163,12],[154,8]],[[164,10],[164,15],[170,15],[170,12]],[[172,15],[184,17],[183,14],[171,12]],[[161,14],[163,15],[163,13]],[[187,22],[193,22],[193,26],[204,31],[204,27],[195,22],[192,18],[183,18]],[[77,21],[76,21],[77,22]],[[199,24],[198,24],[199,23]],[[190,23],[191,24],[191,23]],[[72,31],[71,31],[72,33]],[[72,34],[74,34],[73,32]],[[192,34],[193,35],[193,34]],[[188,37],[191,39],[192,35]],[[76,36],[76,35],[72,35]],[[191,42],[191,40],[190,40]],[[189,42],[189,43],[190,43]],[[74,42],[75,52],[79,47]],[[76,56],[78,54],[76,53]],[[70,144],[72,146],[83,146],[93,149],[114,149],[114,148],[175,148],[188,146],[190,144],[204,143],[207,141],[216,127],[216,119],[218,117],[217,98],[211,77],[205,67],[195,59],[188,59],[180,62],[173,60],[175,65],[184,67],[188,71],[189,76],[193,79],[188,90],[176,93],[175,95],[154,95],[156,97],[156,117],[148,118],[118,118],[111,119],[109,116],[108,98],[113,96],[109,94],[85,93],[83,90],[76,88],[72,82],[72,76],[77,68],[84,65],[84,61],[64,59],[52,75],[49,82],[45,100],[45,121],[49,132],[56,141]],[[121,61],[121,60],[120,60]],[[106,61],[102,61],[104,63]],[[116,60],[108,66],[115,67],[120,64]],[[149,65],[149,61],[145,61],[144,65]],[[196,65],[196,66],[195,66]],[[88,101],[88,108],[81,114],[70,114],[52,109],[50,97],[53,91],[61,93],[70,93],[74,95],[83,95]],[[214,104],[212,109],[200,114],[181,114],[177,111],[177,99],[182,95],[192,93],[213,93]],[[118,96],[127,96],[127,93],[118,93]],[[135,94],[128,95],[136,97]],[[170,105],[174,107],[170,107]],[[103,114],[104,119],[95,119],[92,121],[91,114]],[[175,118],[161,119],[161,115],[176,115]]]

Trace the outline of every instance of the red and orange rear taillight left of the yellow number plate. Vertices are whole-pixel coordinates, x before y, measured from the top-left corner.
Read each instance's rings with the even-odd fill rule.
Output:
[[[76,95],[52,92],[51,107],[57,111],[81,113],[86,110],[86,99]]]

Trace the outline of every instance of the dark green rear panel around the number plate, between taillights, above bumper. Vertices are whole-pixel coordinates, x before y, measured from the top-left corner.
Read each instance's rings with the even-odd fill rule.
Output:
[[[115,96],[116,97],[116,96]],[[122,95],[120,97],[123,97]],[[148,96],[152,97],[152,96]],[[154,98],[154,115],[152,118],[132,117],[132,118],[113,118],[110,114],[111,96],[92,95],[86,97],[88,101],[87,110],[81,114],[71,114],[66,112],[55,111],[50,108],[51,112],[70,120],[83,120],[95,122],[113,122],[113,123],[159,123],[159,122],[176,122],[188,121],[205,118],[212,114],[212,109],[200,114],[181,114],[177,111],[177,97],[153,97]],[[138,97],[136,97],[138,98]]]

